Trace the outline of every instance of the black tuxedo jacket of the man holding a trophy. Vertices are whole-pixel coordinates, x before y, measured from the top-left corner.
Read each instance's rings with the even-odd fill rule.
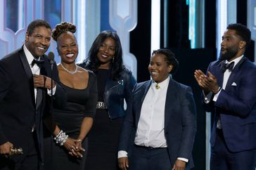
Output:
[[[41,74],[51,77],[49,58],[44,55],[41,59],[44,60]],[[53,79],[57,82],[53,102],[59,106],[65,105],[65,91],[58,85],[56,64],[53,67]],[[46,89],[38,89],[37,104],[35,104],[33,75],[23,47],[0,60],[0,80],[0,145],[9,141],[14,147],[23,148],[23,155],[11,156],[16,160],[22,159],[27,153],[27,138],[31,135],[31,126],[35,124],[39,150],[42,151],[41,118],[46,100],[50,97],[46,94]]]

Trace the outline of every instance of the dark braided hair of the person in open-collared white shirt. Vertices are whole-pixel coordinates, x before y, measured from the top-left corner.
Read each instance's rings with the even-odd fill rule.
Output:
[[[178,67],[179,67],[179,61],[175,58],[174,53],[170,51],[167,48],[160,48],[158,50],[153,51],[152,55],[155,54],[162,54],[165,56],[165,61],[167,62],[167,65],[172,65],[172,71],[169,72],[169,74],[174,74]]]

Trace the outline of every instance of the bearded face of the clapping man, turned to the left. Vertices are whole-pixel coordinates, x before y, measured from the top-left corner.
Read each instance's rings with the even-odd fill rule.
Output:
[[[236,34],[236,30],[226,30],[222,36],[220,60],[233,60],[244,53],[245,41]]]

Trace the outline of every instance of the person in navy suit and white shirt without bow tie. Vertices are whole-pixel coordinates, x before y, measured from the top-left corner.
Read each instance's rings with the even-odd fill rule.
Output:
[[[118,152],[121,169],[177,170],[194,166],[191,152],[196,106],[191,87],[169,76],[177,66],[168,49],[153,51],[148,65],[152,80],[134,86],[132,102],[127,106]]]

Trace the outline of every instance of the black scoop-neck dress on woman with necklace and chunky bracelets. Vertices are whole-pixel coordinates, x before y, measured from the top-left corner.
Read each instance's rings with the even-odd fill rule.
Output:
[[[79,136],[80,127],[84,117],[94,117],[97,102],[97,89],[95,74],[89,72],[89,81],[86,89],[72,89],[61,84],[65,89],[68,102],[65,108],[56,108],[53,110],[53,119],[59,128],[68,134],[71,138]],[[82,141],[82,147],[86,150],[82,158],[73,157],[68,154],[64,146],[51,141],[51,138],[44,140],[44,169],[76,169],[84,170],[84,164],[87,157],[87,138]],[[52,156],[51,156],[52,152]]]

